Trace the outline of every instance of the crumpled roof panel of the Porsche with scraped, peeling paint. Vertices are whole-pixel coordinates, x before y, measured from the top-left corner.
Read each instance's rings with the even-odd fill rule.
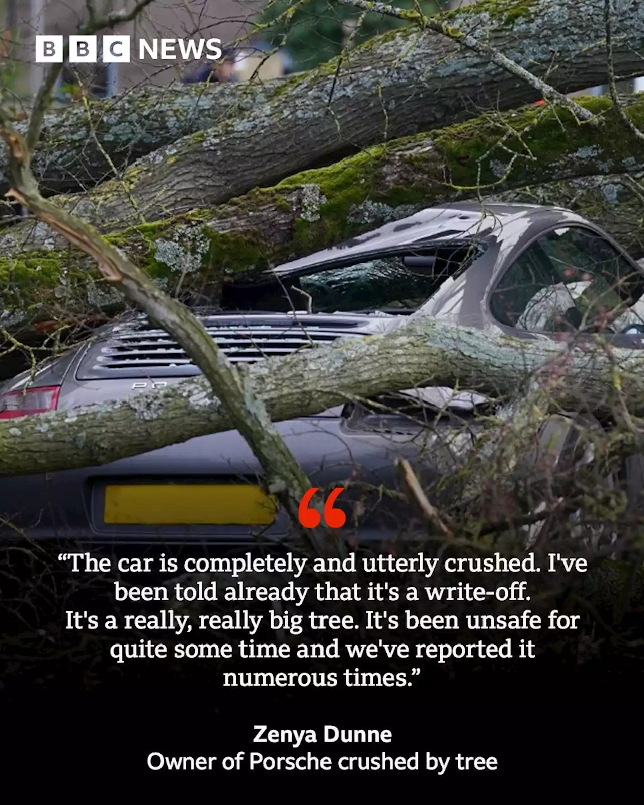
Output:
[[[463,201],[450,204],[449,207],[429,207],[336,246],[283,263],[274,271],[276,274],[290,274],[292,271],[324,262],[351,259],[354,255],[426,241],[489,237],[493,232],[508,227],[519,219],[523,219],[521,225],[525,227],[526,218],[530,219],[530,223],[534,223],[536,219],[545,219],[544,224],[557,224],[562,221],[563,216],[568,221],[571,217],[581,220],[568,209],[539,204],[481,204],[479,201]]]

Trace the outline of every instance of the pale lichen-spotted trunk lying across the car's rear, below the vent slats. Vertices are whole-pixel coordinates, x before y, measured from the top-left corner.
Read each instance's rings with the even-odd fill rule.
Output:
[[[569,349],[412,317],[383,336],[260,361],[246,374],[246,387],[274,422],[423,386],[517,398],[529,380],[547,386],[557,411],[609,413],[619,394],[620,405],[644,415],[643,377],[643,352],[617,349],[609,356],[601,340],[594,349],[592,342]],[[108,464],[231,427],[208,381],[188,380],[120,403],[0,421],[0,476]]]

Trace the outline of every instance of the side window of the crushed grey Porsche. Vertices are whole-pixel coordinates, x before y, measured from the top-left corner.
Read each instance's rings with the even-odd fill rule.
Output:
[[[544,234],[493,291],[502,324],[527,332],[612,329],[642,295],[642,275],[604,237],[581,227]]]

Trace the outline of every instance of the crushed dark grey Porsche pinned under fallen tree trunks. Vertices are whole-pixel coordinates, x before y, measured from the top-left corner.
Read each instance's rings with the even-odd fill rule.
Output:
[[[607,309],[618,312],[609,326]],[[233,364],[384,333],[414,315],[521,338],[601,328],[618,345],[641,348],[644,271],[597,225],[564,208],[461,203],[279,266],[262,283],[225,284],[217,308],[195,313]],[[153,393],[197,374],[163,329],[132,313],[34,376],[6,382],[0,419]],[[347,487],[336,505],[353,517],[357,535],[390,540],[405,531],[409,510],[382,492],[399,488],[396,459],[417,461],[419,430],[431,420],[423,481],[440,478],[463,448],[450,436],[473,440],[485,403],[431,388],[278,427],[312,484]],[[638,467],[625,467],[631,486],[641,486]],[[258,535],[281,539],[291,528],[237,431],[103,466],[4,478],[0,514],[4,538],[235,545]]]

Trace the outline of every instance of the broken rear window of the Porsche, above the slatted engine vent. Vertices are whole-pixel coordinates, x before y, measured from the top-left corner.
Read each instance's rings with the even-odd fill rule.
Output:
[[[221,308],[311,313],[411,313],[481,254],[473,242],[330,262],[266,283],[225,285]]]

